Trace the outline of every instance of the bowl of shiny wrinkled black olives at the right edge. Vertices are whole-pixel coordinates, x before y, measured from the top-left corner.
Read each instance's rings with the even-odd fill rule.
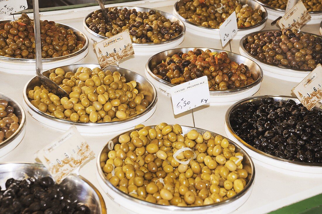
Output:
[[[259,96],[232,105],[226,134],[255,163],[303,177],[322,177],[322,109],[309,111],[297,98]]]

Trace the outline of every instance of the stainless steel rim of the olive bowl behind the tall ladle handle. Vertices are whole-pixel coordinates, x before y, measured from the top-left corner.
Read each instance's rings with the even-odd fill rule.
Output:
[[[4,21],[0,21],[0,24],[1,23],[13,22],[13,21],[17,21],[17,20],[4,20]],[[76,51],[75,53],[71,53],[71,54],[66,55],[66,56],[43,59],[42,60],[43,63],[68,59],[68,58],[71,58],[71,57],[74,57],[74,56],[77,56],[77,55],[81,54],[82,52],[84,52],[88,48],[89,41],[88,41],[87,36],[84,33],[82,33],[81,31],[77,30],[76,28],[73,28],[73,27],[65,25],[65,24],[55,23],[55,25],[57,27],[63,27],[65,29],[73,30],[75,35],[77,36],[77,40],[81,41],[81,42],[84,42],[84,47],[81,48],[80,50]],[[0,60],[8,61],[8,62],[18,62],[18,63],[36,63],[35,59],[16,59],[16,58],[11,58],[11,57],[4,57],[4,56],[0,56]]]

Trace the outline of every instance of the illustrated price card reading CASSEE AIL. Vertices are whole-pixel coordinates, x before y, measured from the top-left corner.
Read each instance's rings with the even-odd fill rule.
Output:
[[[128,29],[93,44],[101,69],[134,55]]]

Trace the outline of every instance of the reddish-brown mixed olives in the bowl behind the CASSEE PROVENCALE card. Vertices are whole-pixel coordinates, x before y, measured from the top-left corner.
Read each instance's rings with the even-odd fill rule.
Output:
[[[224,51],[217,53],[209,49],[195,48],[188,53],[174,54],[153,68],[152,72],[175,85],[207,76],[210,91],[239,88],[255,81],[244,64],[230,60]]]

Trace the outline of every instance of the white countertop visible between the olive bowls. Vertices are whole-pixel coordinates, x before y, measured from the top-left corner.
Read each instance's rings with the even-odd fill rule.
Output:
[[[152,7],[161,11],[172,13],[172,4],[174,1],[166,1],[164,4],[145,4],[145,7]],[[131,5],[134,3],[132,2]],[[129,5],[129,4],[128,4]],[[160,5],[166,7],[159,7]],[[86,13],[82,13],[85,16]],[[79,16],[77,14],[76,16]],[[55,15],[55,19],[50,19],[50,14],[46,13],[46,19],[59,21],[71,25],[82,31],[83,18],[66,19],[66,16]],[[73,13],[69,14],[73,17]],[[61,19],[60,19],[61,18]],[[270,26],[272,20],[267,21],[267,25],[263,30],[278,29],[276,26]],[[319,24],[305,25],[302,31],[319,34]],[[178,47],[205,47],[222,49],[220,38],[207,38],[197,36],[186,32],[185,40]],[[228,43],[224,50],[239,53],[239,40],[233,40]],[[151,56],[134,56],[125,61],[121,61],[119,67],[137,72],[143,76],[144,68],[147,60]],[[96,54],[92,48],[90,41],[90,52],[85,57],[82,63],[98,63]],[[0,72],[0,92],[15,99],[20,104],[23,102],[23,88],[32,76],[26,75],[9,75]],[[291,95],[291,89],[297,84],[286,80],[274,79],[264,75],[260,90],[254,95]],[[207,129],[215,133],[226,135],[224,131],[224,116],[230,106],[208,106],[199,107],[193,111],[188,111],[175,116],[173,114],[171,98],[166,97],[158,91],[158,102],[156,112],[151,116],[144,125],[156,125],[161,122],[168,124],[180,124],[185,126],[195,126],[198,128]],[[57,135],[62,132],[47,128],[41,123],[33,119],[29,114],[26,114],[26,134],[22,142],[9,154],[2,157],[0,162],[35,162],[34,153],[45,145],[52,142]],[[114,137],[113,135],[89,137],[84,136],[90,144],[94,153],[97,154],[101,148]],[[234,213],[266,213],[280,207],[289,205],[314,196],[322,192],[321,179],[318,178],[298,178],[282,173],[274,172],[255,164],[256,176],[255,183],[250,198],[237,209]],[[91,160],[84,165],[80,174],[92,182],[102,193],[107,205],[109,214],[126,213],[119,205],[112,201],[100,188],[96,174],[96,159]]]

